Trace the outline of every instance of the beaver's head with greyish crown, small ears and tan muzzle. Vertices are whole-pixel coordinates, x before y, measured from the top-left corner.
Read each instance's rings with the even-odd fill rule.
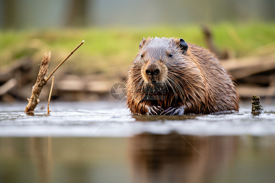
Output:
[[[143,38],[134,63],[140,62],[140,72],[145,83],[165,83],[169,77],[169,68],[177,65],[187,49],[183,39]]]

